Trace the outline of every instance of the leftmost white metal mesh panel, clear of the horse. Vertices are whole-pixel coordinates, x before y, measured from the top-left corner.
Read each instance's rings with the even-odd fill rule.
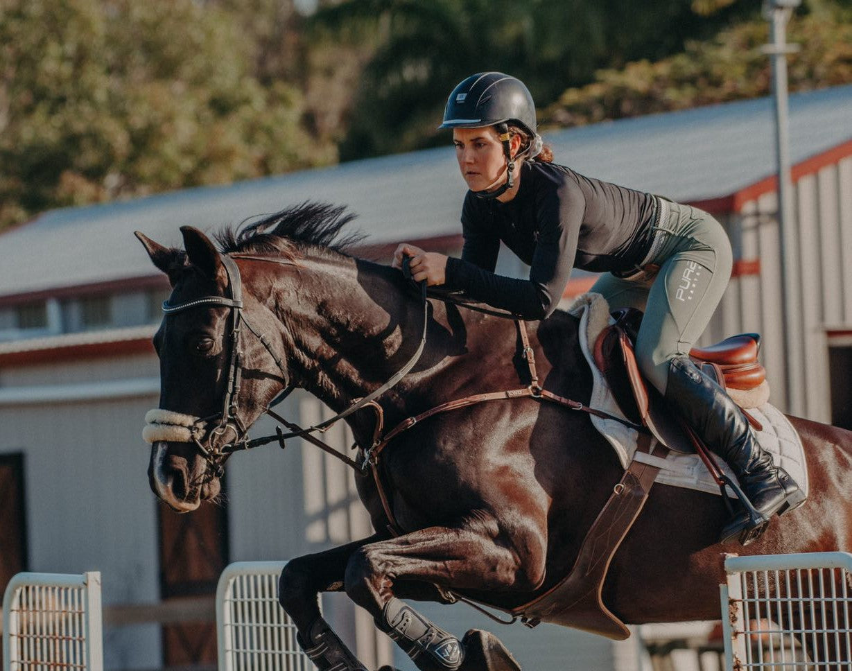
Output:
[[[3,595],[4,671],[103,671],[101,573],[19,573]]]

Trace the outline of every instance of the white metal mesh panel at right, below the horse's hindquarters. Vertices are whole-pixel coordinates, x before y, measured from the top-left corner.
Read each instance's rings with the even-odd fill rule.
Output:
[[[852,671],[852,554],[728,556],[728,671]]]

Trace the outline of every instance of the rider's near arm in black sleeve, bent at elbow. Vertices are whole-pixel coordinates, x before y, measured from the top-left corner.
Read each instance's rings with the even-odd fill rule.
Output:
[[[563,186],[564,188],[564,186]],[[577,239],[583,219],[579,189],[550,191],[536,204],[538,242],[530,264],[529,278],[496,275],[464,256],[446,261],[446,286],[463,290],[475,301],[509,310],[524,319],[543,319],[558,305],[573,267]],[[499,241],[495,238],[495,244]],[[465,248],[467,235],[465,236]],[[495,250],[495,261],[497,252]]]

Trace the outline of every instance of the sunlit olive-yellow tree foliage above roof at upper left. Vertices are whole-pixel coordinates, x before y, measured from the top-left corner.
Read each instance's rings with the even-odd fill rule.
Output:
[[[335,161],[258,60],[224,2],[0,0],[0,227]]]

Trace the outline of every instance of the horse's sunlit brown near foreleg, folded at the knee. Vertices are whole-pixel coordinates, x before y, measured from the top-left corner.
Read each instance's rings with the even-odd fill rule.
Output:
[[[463,668],[463,642],[397,599],[394,583],[426,582],[475,590],[534,588],[541,569],[531,566],[543,565],[544,557],[534,552],[521,557],[509,543],[496,538],[476,530],[432,527],[370,543],[349,560],[346,593],[372,614],[377,627],[406,651],[417,668],[456,671]],[[536,545],[530,543],[527,548]]]

